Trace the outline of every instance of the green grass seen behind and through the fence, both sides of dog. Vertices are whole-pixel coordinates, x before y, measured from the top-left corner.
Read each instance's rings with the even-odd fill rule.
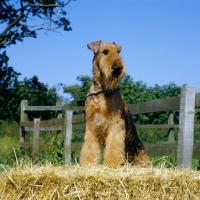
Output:
[[[166,129],[139,129],[138,134],[143,142],[167,141]],[[82,143],[83,131],[76,131],[72,135],[72,142]],[[32,144],[33,133],[27,133],[27,143]],[[178,129],[175,129],[175,140],[178,139]],[[195,143],[200,141],[200,130],[195,129]],[[19,148],[19,125],[17,123],[4,122],[0,124],[0,171],[6,167],[14,167],[19,162],[31,162],[33,164],[52,163],[53,165],[63,164],[63,133],[56,131],[40,132],[40,144],[49,144],[46,151],[33,153],[32,149],[20,150]],[[72,152],[72,163],[79,163],[80,152]],[[102,160],[102,159],[101,159]],[[176,166],[176,158],[172,156],[151,157],[154,166],[162,165],[167,168]],[[193,159],[193,169],[199,169],[199,159]]]

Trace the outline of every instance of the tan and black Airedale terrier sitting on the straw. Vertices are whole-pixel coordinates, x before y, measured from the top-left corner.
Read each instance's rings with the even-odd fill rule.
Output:
[[[133,165],[150,164],[128,105],[118,88],[125,66],[116,43],[96,41],[88,48],[94,52],[93,84],[85,102],[86,132],[80,164],[97,164],[100,147],[104,149],[104,164],[119,167],[125,160]]]

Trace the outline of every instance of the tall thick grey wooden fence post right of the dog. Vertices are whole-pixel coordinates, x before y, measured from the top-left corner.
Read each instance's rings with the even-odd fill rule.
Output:
[[[192,167],[195,93],[194,87],[181,89],[177,166],[183,168]]]

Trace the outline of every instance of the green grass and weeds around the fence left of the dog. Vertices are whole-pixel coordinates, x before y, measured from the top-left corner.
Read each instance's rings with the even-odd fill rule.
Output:
[[[75,131],[72,136],[73,143],[82,143],[84,131]],[[32,148],[19,149],[19,125],[17,123],[2,122],[0,124],[0,171],[1,165],[14,167],[17,162],[31,162],[33,164],[52,163],[63,164],[63,141],[62,132],[41,131],[40,145],[48,145],[45,151],[33,153]],[[26,144],[32,145],[33,132],[27,132]],[[72,152],[72,163],[79,162],[80,152]]]

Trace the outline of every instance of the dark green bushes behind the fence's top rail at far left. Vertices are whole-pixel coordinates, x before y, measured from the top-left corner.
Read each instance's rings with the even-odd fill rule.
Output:
[[[20,103],[22,100],[28,100],[29,105],[54,106],[59,96],[56,88],[48,88],[48,85],[39,82],[37,76],[30,79],[25,78],[23,82],[15,80],[13,85],[7,85],[7,88],[0,89],[0,119],[20,121]],[[53,116],[48,112],[31,112],[30,120],[33,118],[50,119]]]

